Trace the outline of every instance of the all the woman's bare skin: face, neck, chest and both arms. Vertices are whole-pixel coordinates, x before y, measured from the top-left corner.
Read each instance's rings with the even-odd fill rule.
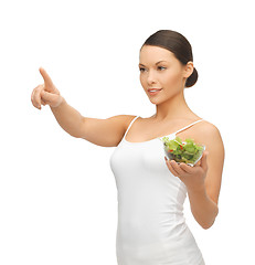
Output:
[[[126,135],[127,140],[150,140],[169,135],[170,129],[173,132],[201,119],[189,108],[183,93],[185,81],[193,72],[193,62],[182,65],[170,51],[150,45],[142,46],[139,61],[140,83],[149,100],[156,105],[156,114],[149,118],[139,117]],[[118,146],[135,118],[134,115],[117,115],[107,119],[83,117],[66,104],[45,70],[40,67],[40,73],[44,84],[33,89],[31,100],[34,107],[41,109],[41,105],[50,105],[52,110],[55,109],[54,115],[62,128],[67,124],[70,128],[74,128],[74,137],[103,147]],[[149,88],[162,91],[158,95],[150,95]],[[217,201],[224,163],[221,134],[214,125],[203,120],[180,131],[178,136],[181,139],[191,137],[206,147],[195,167],[170,160],[166,160],[166,165],[187,186],[193,216],[202,227],[208,229],[219,213]]]

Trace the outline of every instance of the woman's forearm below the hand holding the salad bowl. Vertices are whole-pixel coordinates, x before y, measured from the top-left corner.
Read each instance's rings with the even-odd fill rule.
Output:
[[[209,229],[213,225],[219,213],[219,208],[214,201],[210,199],[205,187],[196,191],[188,190],[191,212],[196,222],[203,227]]]

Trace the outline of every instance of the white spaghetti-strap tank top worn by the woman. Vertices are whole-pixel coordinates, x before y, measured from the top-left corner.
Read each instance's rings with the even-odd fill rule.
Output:
[[[118,265],[204,265],[183,216],[185,184],[166,165],[162,137],[141,142],[125,139],[138,117],[110,156],[118,191]],[[173,139],[202,120],[168,137]]]

